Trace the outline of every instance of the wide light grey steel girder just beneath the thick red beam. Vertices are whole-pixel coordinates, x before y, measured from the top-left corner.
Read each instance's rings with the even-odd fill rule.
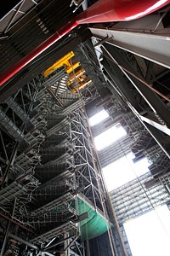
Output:
[[[105,26],[90,27],[95,38],[108,41],[109,44],[125,49],[135,55],[144,57],[147,60],[170,68],[170,36],[169,30],[164,29],[162,34],[150,32],[127,32],[109,29]]]

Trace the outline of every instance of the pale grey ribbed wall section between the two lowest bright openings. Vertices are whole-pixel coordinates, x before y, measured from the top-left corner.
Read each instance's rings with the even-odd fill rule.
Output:
[[[150,182],[150,180],[150,172],[148,172],[111,191],[111,201],[120,224],[123,224],[129,218],[135,218],[167,203],[169,194],[163,184],[164,178],[161,177],[162,183],[146,189],[144,184]]]

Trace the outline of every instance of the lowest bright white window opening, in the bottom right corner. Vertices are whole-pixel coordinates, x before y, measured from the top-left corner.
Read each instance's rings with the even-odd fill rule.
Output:
[[[170,212],[166,205],[123,225],[134,256],[170,255]]]

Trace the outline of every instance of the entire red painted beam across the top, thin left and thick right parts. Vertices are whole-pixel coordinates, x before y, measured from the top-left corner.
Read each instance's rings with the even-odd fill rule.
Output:
[[[168,3],[170,3],[170,0],[99,0],[81,15],[78,15],[76,21],[72,20],[60,28],[58,32],[55,32],[13,67],[9,68],[7,72],[3,73],[0,77],[0,86],[7,82],[8,79],[11,79],[23,67],[26,67],[38,55],[41,55],[43,51],[56,43],[59,38],[71,32],[78,24],[135,20],[144,15],[149,15]]]

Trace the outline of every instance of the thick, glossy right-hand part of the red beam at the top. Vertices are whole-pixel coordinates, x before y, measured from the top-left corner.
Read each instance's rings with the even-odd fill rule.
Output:
[[[170,0],[99,0],[77,16],[77,23],[135,20],[161,9]]]

